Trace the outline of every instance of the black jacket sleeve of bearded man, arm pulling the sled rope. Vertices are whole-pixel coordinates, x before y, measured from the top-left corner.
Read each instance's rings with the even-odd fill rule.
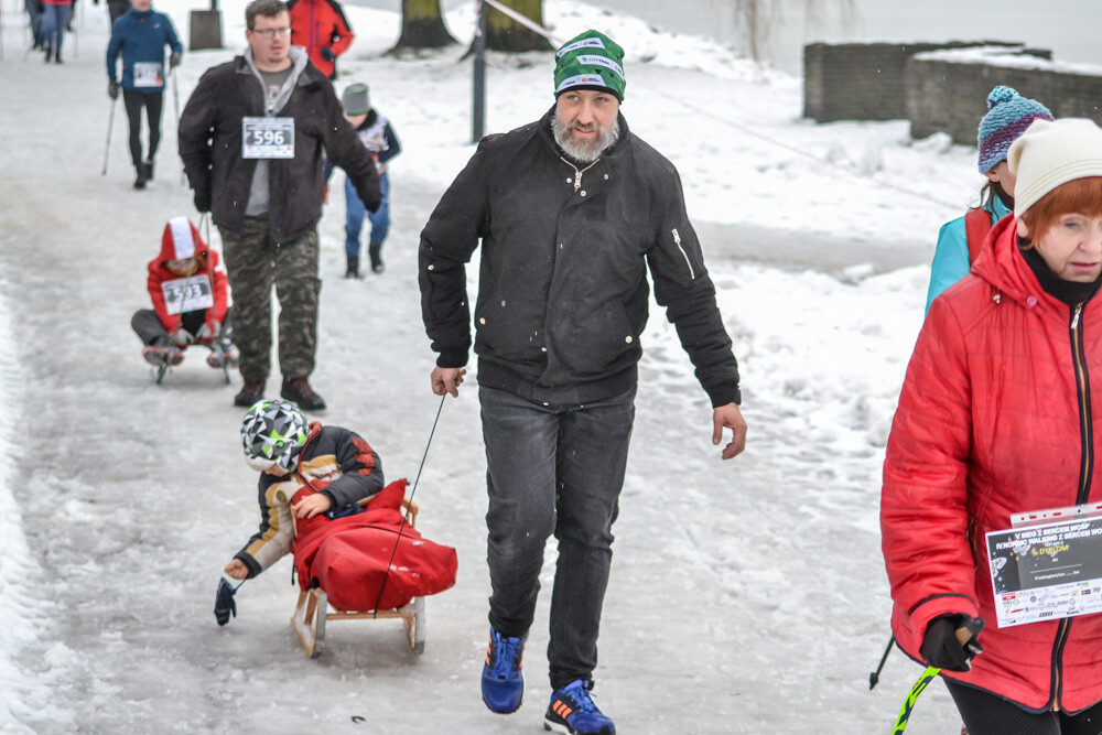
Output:
[[[466,263],[478,247],[488,218],[487,142],[479,143],[421,230],[421,317],[440,367],[463,367],[471,350]]]

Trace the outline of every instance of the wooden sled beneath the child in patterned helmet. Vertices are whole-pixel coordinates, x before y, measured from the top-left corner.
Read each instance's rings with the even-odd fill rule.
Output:
[[[402,500],[410,528],[417,527],[417,504],[408,498]],[[291,616],[291,629],[310,658],[322,655],[325,646],[325,624],[327,620],[381,620],[400,618],[406,624],[406,637],[410,650],[420,656],[424,652],[425,615],[424,597],[414,597],[401,607],[385,610],[342,610],[329,605],[328,596],[321,587],[299,592],[299,603]]]

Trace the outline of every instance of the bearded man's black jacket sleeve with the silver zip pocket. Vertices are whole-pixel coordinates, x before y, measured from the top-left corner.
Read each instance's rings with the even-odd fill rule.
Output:
[[[696,233],[685,212],[681,179],[670,172],[672,185],[658,207],[658,231],[647,262],[655,281],[655,301],[666,307],[666,317],[677,327],[681,347],[695,368],[696,380],[712,407],[741,403],[738,365],[731,337],[715,303],[715,285],[704,268]]]

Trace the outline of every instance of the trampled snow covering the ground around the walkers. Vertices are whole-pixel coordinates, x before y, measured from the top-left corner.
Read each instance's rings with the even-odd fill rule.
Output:
[[[101,176],[106,9],[80,3],[58,66],[25,52],[19,4],[0,2],[0,731],[542,732],[547,595],[520,712],[494,715],[478,696],[489,583],[473,382],[445,401],[417,493],[423,533],[460,553],[456,586],[429,599],[422,657],[383,620],[332,624],[325,652],[307,659],[288,625],[285,561],[215,624],[220,569],[257,525],[231,406],[239,379],[227,386],[190,355],[156,386],[129,326],[164,221],[195,216],[174,95],[149,190],[130,187],[121,105]],[[188,3],[156,6],[186,43]],[[185,55],[181,106],[244,46],[242,7],[222,3],[228,48]],[[313,382],[331,406],[320,418],[364,433],[389,478],[412,480],[440,402],[418,234],[473,152],[471,64],[463,47],[395,60],[398,14],[348,12],[358,35],[338,89],[370,83],[404,153],[382,277],[341,278],[334,188]],[[547,0],[545,18],[560,39],[592,26],[627,50],[624,112],[681,172],[749,423],[746,453],[722,463],[706,399],[656,309],[598,703],[624,733],[886,732],[920,669],[896,652],[868,691],[889,635],[879,467],[938,227],[976,195],[974,150],[912,141],[901,121],[802,120],[799,80],[700,39],[566,0]],[[449,23],[465,45],[472,6]],[[489,131],[550,106],[551,67],[550,54],[490,58]],[[552,569],[549,554],[548,582]],[[958,727],[939,684],[909,732]]]

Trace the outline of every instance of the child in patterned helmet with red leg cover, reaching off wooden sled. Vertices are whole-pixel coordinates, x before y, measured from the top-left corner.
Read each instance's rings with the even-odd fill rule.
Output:
[[[261,473],[260,528],[226,576],[251,579],[292,553],[303,592],[321,587],[342,610],[398,608],[455,584],[455,549],[406,522],[406,480],[383,486],[379,455],[359,434],[307,424],[288,401],[260,400],[245,415],[241,443]],[[219,625],[236,615],[235,588],[219,585]]]

